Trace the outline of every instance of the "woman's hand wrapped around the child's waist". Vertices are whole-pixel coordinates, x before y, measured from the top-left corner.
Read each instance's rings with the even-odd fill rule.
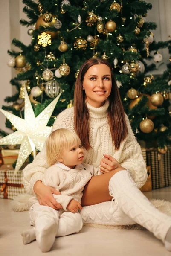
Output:
[[[34,192],[38,198],[40,205],[46,205],[49,207],[52,207],[55,210],[61,209],[61,204],[58,204],[58,202],[55,200],[52,194],[60,195],[61,193],[50,187],[44,185],[41,180],[38,180],[34,185]]]

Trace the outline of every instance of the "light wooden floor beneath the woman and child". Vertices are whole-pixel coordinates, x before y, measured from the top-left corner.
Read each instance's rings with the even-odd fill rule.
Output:
[[[146,192],[150,198],[171,201],[171,187]],[[0,255],[40,256],[36,241],[23,245],[21,232],[29,228],[28,212],[13,212],[10,201],[0,199]],[[143,230],[83,227],[80,233],[56,239],[51,256],[171,256],[161,241]]]

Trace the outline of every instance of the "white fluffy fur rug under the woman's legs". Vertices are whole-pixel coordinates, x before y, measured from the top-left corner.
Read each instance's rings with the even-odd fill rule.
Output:
[[[14,197],[14,200],[11,202],[12,210],[15,212],[28,211],[30,208],[29,198],[31,195],[29,194],[21,194]],[[167,215],[171,216],[171,202],[160,200],[160,199],[152,199],[151,203],[160,211]],[[87,227],[95,227],[95,228],[108,228],[108,229],[135,229],[135,230],[145,230],[144,227],[139,224],[133,225],[123,225],[123,226],[110,226],[110,225],[99,225],[99,224],[87,224],[84,223],[84,226]]]

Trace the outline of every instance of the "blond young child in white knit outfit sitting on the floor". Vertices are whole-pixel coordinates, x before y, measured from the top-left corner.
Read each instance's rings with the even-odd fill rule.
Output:
[[[44,173],[43,183],[61,192],[53,194],[63,209],[55,210],[38,203],[36,196],[30,199],[29,210],[32,229],[21,234],[23,243],[37,240],[42,252],[51,249],[56,236],[67,236],[82,228],[82,191],[86,183],[101,174],[98,168],[82,163],[84,150],[81,140],[67,129],[53,131],[46,140],[46,158],[49,168]]]

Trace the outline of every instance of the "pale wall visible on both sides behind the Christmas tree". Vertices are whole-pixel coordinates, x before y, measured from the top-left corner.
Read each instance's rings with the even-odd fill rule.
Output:
[[[147,0],[147,2],[153,4],[153,9],[148,12],[146,20],[154,21],[158,26],[157,30],[154,31],[155,40],[168,40],[168,35],[171,34],[171,0]],[[19,23],[21,18],[27,19],[23,13],[23,7],[22,0],[0,0],[0,35],[2,38],[0,40],[0,108],[4,104],[6,105],[4,102],[6,96],[14,94],[14,87],[12,87],[9,81],[15,77],[15,70],[6,65],[9,59],[7,50],[16,50],[16,47],[11,45],[12,39],[17,38],[26,45],[32,39],[27,34],[27,30],[31,27],[27,28]],[[162,50],[161,53],[164,57],[164,64],[154,71],[154,74],[162,73],[169,62],[168,50]],[[5,116],[0,113],[0,128],[10,132],[11,130],[5,128],[5,120]]]

